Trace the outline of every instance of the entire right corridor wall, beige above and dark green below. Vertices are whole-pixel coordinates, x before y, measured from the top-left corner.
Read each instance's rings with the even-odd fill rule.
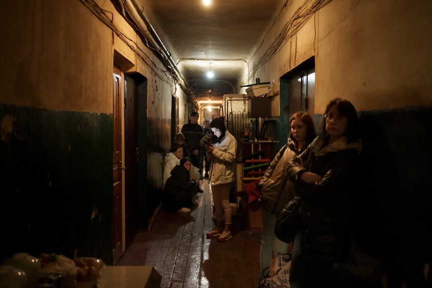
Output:
[[[378,287],[384,279],[389,287],[401,282],[420,287],[426,283],[423,269],[430,261],[432,234],[426,186],[432,172],[427,153],[432,140],[432,3],[327,2],[249,83],[260,78],[278,90],[279,77],[315,56],[316,120],[331,99],[341,97],[354,104],[362,123],[362,194],[352,259],[344,272],[354,276],[352,286]],[[289,2],[251,66],[304,3]],[[273,97],[276,118],[284,113],[278,108],[280,97]]]

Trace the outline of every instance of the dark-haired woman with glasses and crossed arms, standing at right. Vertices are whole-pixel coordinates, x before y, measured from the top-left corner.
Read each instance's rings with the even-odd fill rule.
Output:
[[[292,288],[333,287],[338,263],[347,259],[351,243],[349,207],[359,186],[362,147],[354,106],[340,98],[331,100],[321,129],[286,168],[301,197],[289,278]]]

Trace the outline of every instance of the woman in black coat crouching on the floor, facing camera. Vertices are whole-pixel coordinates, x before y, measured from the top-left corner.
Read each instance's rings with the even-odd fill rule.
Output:
[[[189,175],[190,158],[184,157],[171,171],[162,192],[162,209],[170,212],[190,212],[196,181]]]

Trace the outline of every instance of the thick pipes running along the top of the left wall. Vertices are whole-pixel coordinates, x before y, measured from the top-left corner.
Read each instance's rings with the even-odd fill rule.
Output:
[[[144,35],[145,39],[147,39],[147,41],[150,42],[150,44],[152,46],[151,48],[156,50],[161,55],[162,61],[165,63],[165,65],[169,69],[171,69],[171,71],[173,72],[173,75],[175,76],[177,81],[180,82],[180,85],[187,87],[186,82],[184,81],[184,78],[181,75],[181,72],[177,68],[177,65],[175,64],[174,60],[171,58],[171,55],[169,54],[168,50],[163,45],[159,36],[154,31],[154,29],[151,26],[150,22],[148,21],[147,17],[144,15],[144,8],[141,6],[139,1],[138,0],[123,0],[123,5],[124,5],[126,11],[129,13],[130,17],[132,18],[132,20],[135,22],[135,24],[141,30],[141,33]],[[188,88],[188,90],[190,92],[189,88]],[[198,104],[198,102],[196,101],[196,98],[193,95],[192,95],[192,100],[195,103],[195,105]]]

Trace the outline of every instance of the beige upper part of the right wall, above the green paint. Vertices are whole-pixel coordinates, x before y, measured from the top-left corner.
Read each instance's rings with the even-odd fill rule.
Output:
[[[290,2],[251,63],[256,62],[304,0]],[[315,56],[315,113],[330,99],[359,111],[432,105],[432,2],[333,0],[314,15],[253,79],[278,82]],[[276,75],[277,74],[277,75]],[[277,83],[279,84],[279,83]],[[273,116],[279,115],[274,97]]]

